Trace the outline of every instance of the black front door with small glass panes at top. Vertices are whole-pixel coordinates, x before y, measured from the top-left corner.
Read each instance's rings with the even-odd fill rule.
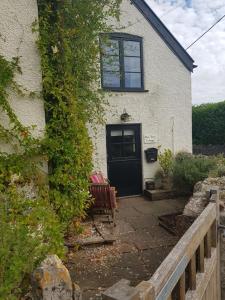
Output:
[[[118,196],[142,193],[140,125],[107,125],[107,162],[110,184]]]

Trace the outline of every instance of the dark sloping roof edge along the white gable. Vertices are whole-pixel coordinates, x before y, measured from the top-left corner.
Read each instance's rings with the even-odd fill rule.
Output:
[[[184,66],[191,72],[194,69],[194,60],[178,42],[174,35],[164,25],[160,18],[154,13],[144,0],[131,0],[131,3],[141,12],[141,14],[152,25],[154,30],[164,40],[170,50],[181,60]]]

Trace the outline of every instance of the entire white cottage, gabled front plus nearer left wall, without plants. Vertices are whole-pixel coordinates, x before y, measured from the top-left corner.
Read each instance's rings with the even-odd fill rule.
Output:
[[[36,0],[0,1],[0,55],[19,56],[17,81],[30,92],[42,89],[41,66],[32,23]],[[120,196],[141,194],[157,162],[145,150],[192,151],[191,72],[193,59],[144,0],[123,0],[120,28],[102,45],[102,88],[109,97],[106,125],[91,134],[95,170],[101,170]],[[122,28],[122,29],[121,29]],[[18,118],[36,135],[45,128],[43,101],[10,94]],[[1,116],[4,119],[4,115]],[[7,119],[6,119],[7,122]]]

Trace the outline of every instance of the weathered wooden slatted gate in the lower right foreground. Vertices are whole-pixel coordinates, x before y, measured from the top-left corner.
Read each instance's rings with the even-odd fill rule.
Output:
[[[187,230],[149,281],[121,280],[104,300],[220,300],[218,194]]]

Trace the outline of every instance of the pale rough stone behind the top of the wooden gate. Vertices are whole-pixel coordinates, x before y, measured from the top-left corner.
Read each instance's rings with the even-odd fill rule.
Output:
[[[196,183],[193,196],[184,208],[183,214],[190,217],[198,217],[209,203],[210,191],[219,189],[220,206],[225,203],[225,177],[207,178]]]

